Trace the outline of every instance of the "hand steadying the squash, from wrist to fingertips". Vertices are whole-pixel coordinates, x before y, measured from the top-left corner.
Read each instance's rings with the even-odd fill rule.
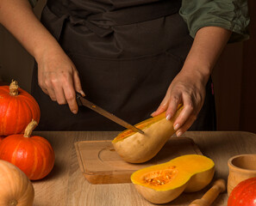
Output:
[[[168,88],[159,108],[152,114],[154,117],[166,111],[166,118],[171,119],[178,105],[182,104],[184,108],[173,124],[177,136],[181,136],[197,119],[197,114],[200,112],[205,98],[203,76],[197,70],[190,71],[181,70],[178,73],[178,76],[173,79]]]

